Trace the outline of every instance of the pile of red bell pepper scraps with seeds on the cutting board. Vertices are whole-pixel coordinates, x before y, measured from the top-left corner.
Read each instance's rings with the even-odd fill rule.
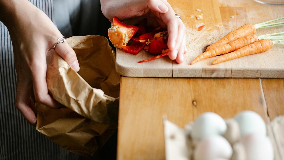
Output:
[[[145,18],[138,26],[126,25],[113,18],[113,23],[108,31],[109,40],[118,49],[124,49],[127,53],[137,55],[142,49],[150,54],[158,55],[151,60],[168,55],[168,31],[158,27],[155,29],[146,28]],[[147,33],[147,31],[150,31]],[[150,61],[146,59],[141,62]]]

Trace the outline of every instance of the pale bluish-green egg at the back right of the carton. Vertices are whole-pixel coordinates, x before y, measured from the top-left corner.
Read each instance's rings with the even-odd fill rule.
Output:
[[[254,111],[238,113],[234,119],[238,122],[242,136],[255,133],[266,135],[266,125],[262,117]]]

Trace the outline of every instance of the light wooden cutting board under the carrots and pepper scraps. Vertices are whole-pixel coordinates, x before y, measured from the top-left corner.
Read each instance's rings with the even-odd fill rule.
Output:
[[[284,5],[264,5],[253,0],[168,0],[186,26],[188,53],[184,62],[177,64],[169,57],[138,63],[153,57],[146,51],[131,55],[116,51],[116,70],[128,77],[229,77],[229,78],[284,78],[284,46],[274,45],[264,53],[248,55],[211,65],[216,57],[193,65],[189,63],[206,47],[243,24],[257,24],[284,16]],[[230,7],[229,7],[230,6]],[[233,7],[232,7],[233,6]],[[201,9],[201,11],[196,11]],[[202,20],[196,15],[203,14]],[[234,17],[234,18],[232,18]],[[197,28],[205,25],[203,30]],[[256,35],[284,32],[284,26],[258,29]]]

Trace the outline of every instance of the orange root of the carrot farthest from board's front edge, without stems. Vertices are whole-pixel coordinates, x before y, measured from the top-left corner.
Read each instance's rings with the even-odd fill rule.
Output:
[[[227,44],[230,41],[234,41],[235,39],[254,34],[256,31],[256,28],[252,24],[245,24],[241,26],[240,28],[233,30],[229,32],[226,36],[221,38],[219,41],[213,43],[212,45],[208,46],[205,51],[209,51],[210,49],[214,49],[216,47],[219,47],[221,45]]]

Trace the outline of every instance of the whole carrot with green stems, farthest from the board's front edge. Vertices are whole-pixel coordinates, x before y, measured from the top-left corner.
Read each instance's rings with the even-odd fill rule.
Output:
[[[254,34],[256,32],[256,29],[283,26],[284,22],[270,23],[270,22],[273,22],[273,21],[281,20],[283,18],[284,17],[280,17],[280,18],[277,18],[277,19],[274,19],[274,20],[270,20],[270,21],[266,21],[266,22],[262,22],[262,23],[254,24],[254,25],[245,24],[245,25],[241,26],[240,28],[229,32],[226,36],[221,38],[219,41],[208,46],[205,51],[209,51],[210,49],[214,49],[216,47],[227,44],[230,41],[233,41],[235,39],[247,36],[249,34]]]

